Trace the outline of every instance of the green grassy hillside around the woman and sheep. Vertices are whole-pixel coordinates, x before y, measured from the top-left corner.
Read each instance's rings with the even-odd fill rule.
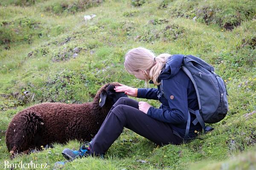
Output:
[[[90,14],[96,17],[85,21]],[[143,88],[123,66],[124,54],[138,46],[212,64],[227,83],[227,116],[199,134],[203,140],[178,146],[159,147],[124,129],[105,159],[57,169],[256,169],[254,0],[0,0],[0,169],[4,161],[47,163],[47,169],[64,161],[61,151],[77,149],[78,141],[9,159],[5,132],[12,117],[37,103],[91,101],[106,82]]]

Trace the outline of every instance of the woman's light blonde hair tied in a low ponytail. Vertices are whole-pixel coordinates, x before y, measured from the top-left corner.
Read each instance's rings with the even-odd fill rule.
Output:
[[[136,74],[140,70],[145,71],[145,86],[148,85],[149,80],[151,79],[155,85],[160,85],[158,81],[158,76],[161,73],[163,65],[166,63],[167,57],[171,56],[170,54],[160,54],[157,57],[153,51],[148,50],[143,47],[137,47],[129,50],[125,54],[125,69],[130,74]],[[149,75],[147,74],[149,71]]]

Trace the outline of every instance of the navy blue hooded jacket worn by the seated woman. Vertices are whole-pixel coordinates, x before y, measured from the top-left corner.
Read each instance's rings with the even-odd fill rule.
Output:
[[[184,137],[186,131],[188,107],[193,110],[199,109],[194,85],[180,68],[183,56],[176,54],[169,57],[158,77],[158,82],[163,79],[163,91],[167,99],[162,95],[160,85],[157,85],[157,88],[138,88],[137,94],[139,98],[159,100],[162,103],[160,108],[151,106],[147,115],[159,121],[170,123],[172,129],[181,137]],[[202,127],[199,123],[193,125],[192,121],[195,119],[195,115],[190,115],[189,137],[195,137],[197,136],[195,130],[201,131]]]

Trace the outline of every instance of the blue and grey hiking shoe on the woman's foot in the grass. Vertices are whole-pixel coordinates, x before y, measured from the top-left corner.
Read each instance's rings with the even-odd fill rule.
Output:
[[[83,144],[80,146],[79,150],[71,150],[69,148],[65,148],[61,154],[67,160],[73,160],[76,158],[87,157],[90,155],[90,148],[86,147],[87,144]]]

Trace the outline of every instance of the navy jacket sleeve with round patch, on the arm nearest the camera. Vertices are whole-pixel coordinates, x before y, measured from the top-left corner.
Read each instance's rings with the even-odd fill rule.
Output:
[[[162,122],[172,124],[185,123],[187,121],[187,90],[179,82],[168,79],[163,81],[164,96],[168,100],[169,109],[150,107],[148,116]]]

